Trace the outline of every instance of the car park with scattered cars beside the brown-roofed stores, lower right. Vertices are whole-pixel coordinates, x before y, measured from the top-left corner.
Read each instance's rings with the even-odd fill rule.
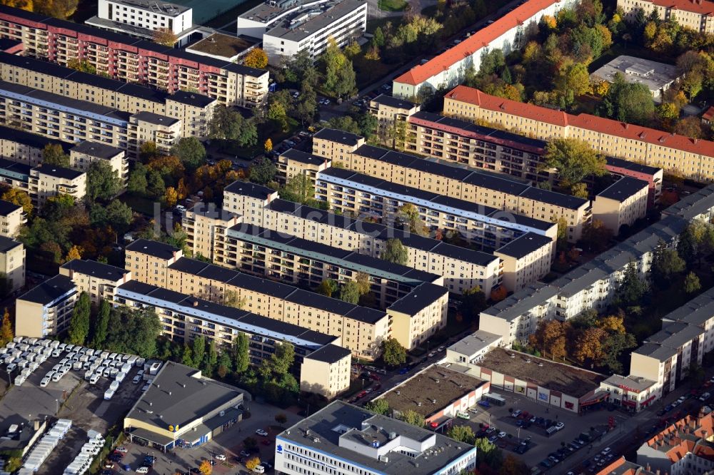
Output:
[[[492,391],[493,392],[493,391]],[[503,406],[493,406],[485,408],[477,406],[476,414],[471,413],[471,419],[453,419],[455,425],[469,425],[474,433],[481,431],[483,428],[490,427],[491,430],[486,437],[491,439],[494,444],[499,446],[503,451],[520,458],[528,466],[538,465],[543,459],[548,459],[550,454],[553,454],[558,463],[562,461],[562,455],[555,454],[557,451],[563,451],[565,458],[575,454],[576,452],[585,451],[596,453],[596,449],[590,449],[591,444],[573,444],[573,441],[580,436],[582,432],[588,433],[593,438],[595,443],[599,434],[607,429],[608,417],[614,417],[616,422],[622,422],[626,419],[625,415],[618,412],[595,411],[579,416],[572,412],[553,407],[546,407],[544,404],[532,401],[518,394],[508,392],[496,392],[499,396],[506,399],[506,404]],[[528,412],[528,419],[513,417],[509,412],[521,411]],[[518,421],[523,424],[526,420],[530,421],[533,417],[538,419],[536,422],[526,424],[528,427],[518,427]],[[540,424],[540,419],[543,422]],[[547,424],[550,419],[550,424]],[[558,423],[563,424],[563,428],[556,431],[552,435],[548,435],[546,427]],[[504,432],[501,437],[498,435]],[[515,450],[521,445],[522,441],[527,441],[528,449],[520,454]],[[563,446],[565,444],[565,446]],[[568,444],[573,446],[568,449]],[[571,450],[572,449],[572,450]],[[547,471],[547,467],[539,466],[543,471]],[[561,467],[554,464],[550,469],[550,473],[560,473]]]

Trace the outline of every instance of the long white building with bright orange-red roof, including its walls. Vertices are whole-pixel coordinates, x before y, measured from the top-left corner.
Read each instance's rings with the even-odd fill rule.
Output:
[[[543,16],[555,16],[573,4],[572,1],[528,0],[516,6],[448,51],[395,78],[393,96],[418,98],[424,93],[456,86],[463,81],[468,68],[478,71],[484,53],[500,49],[508,55],[520,49],[528,31],[537,26]]]

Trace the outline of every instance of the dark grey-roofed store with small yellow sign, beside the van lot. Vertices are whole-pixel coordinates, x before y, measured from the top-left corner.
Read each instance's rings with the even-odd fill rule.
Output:
[[[195,447],[240,424],[251,395],[183,364],[165,362],[124,417],[129,441],[160,451]]]

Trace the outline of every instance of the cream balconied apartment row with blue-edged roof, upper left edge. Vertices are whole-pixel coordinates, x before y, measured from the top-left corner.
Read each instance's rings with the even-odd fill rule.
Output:
[[[0,120],[56,141],[111,145],[132,157],[149,141],[161,153],[169,153],[183,128],[180,120],[153,112],[131,114],[6,81],[0,81]]]

